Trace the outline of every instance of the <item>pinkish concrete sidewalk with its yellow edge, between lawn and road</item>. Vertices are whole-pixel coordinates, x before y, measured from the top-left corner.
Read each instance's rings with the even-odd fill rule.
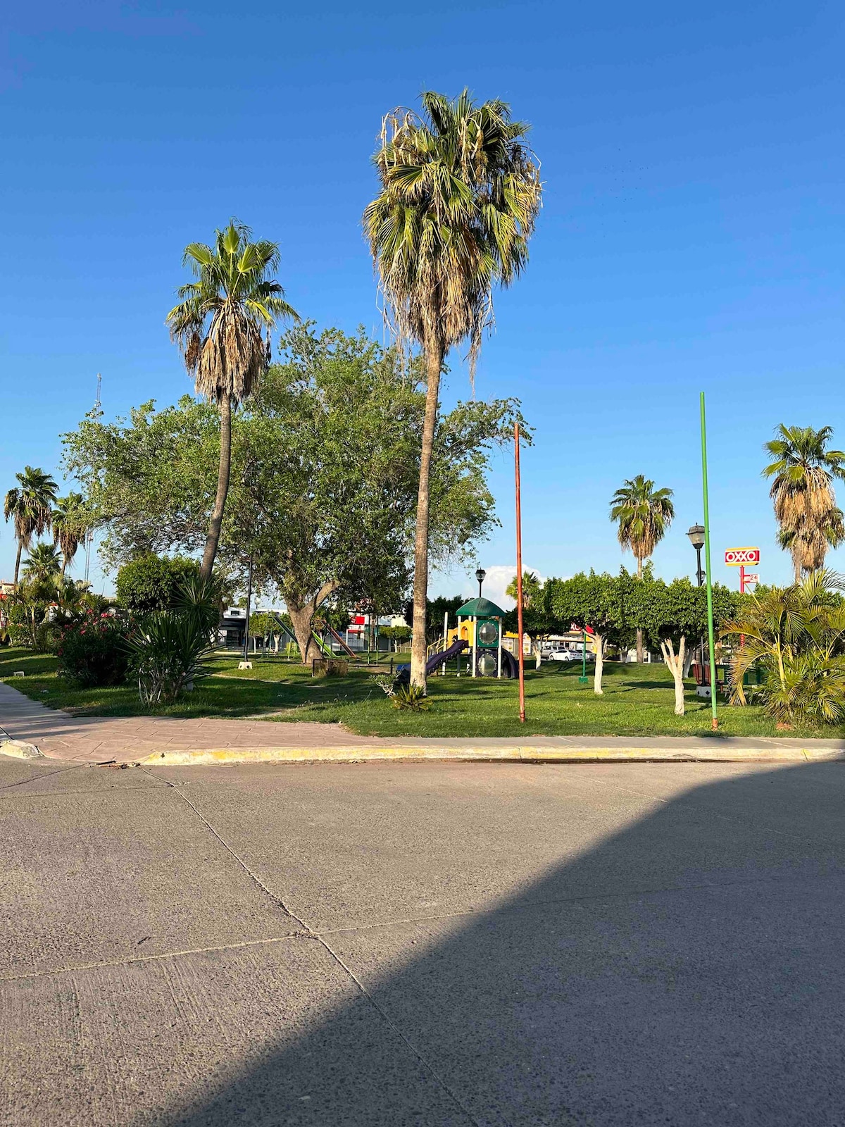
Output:
[[[0,682],[0,739],[34,745],[42,755],[77,763],[303,762],[357,760],[553,760],[807,762],[845,760],[845,740],[737,736],[652,738],[532,736],[415,739],[356,736],[337,724],[169,717],[73,717],[29,700]],[[6,754],[26,754],[14,744]]]

